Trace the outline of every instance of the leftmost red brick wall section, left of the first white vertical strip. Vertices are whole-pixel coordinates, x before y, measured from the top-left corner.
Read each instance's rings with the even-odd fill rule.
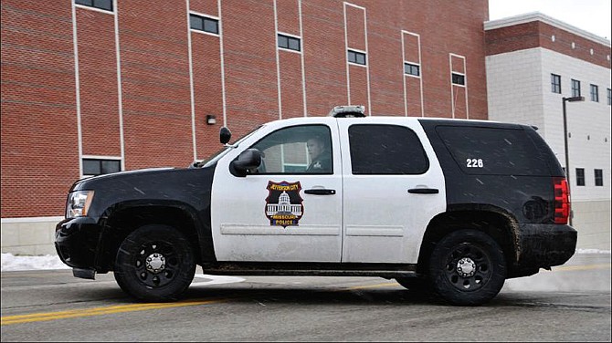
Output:
[[[71,5],[3,0],[2,217],[63,215],[79,178]]]

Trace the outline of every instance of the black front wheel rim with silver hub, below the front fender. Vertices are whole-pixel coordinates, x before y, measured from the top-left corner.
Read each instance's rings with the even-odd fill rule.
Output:
[[[146,287],[159,288],[170,284],[179,275],[180,256],[167,242],[147,242],[134,254],[132,262],[136,279]]]

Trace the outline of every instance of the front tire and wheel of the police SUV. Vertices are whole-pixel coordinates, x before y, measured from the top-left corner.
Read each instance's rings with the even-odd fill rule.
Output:
[[[194,279],[194,251],[174,227],[145,225],[121,243],[114,275],[121,289],[139,300],[174,301]]]

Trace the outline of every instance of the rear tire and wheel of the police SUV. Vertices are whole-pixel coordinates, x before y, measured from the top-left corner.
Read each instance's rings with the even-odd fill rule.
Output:
[[[500,293],[506,262],[491,236],[459,230],[442,238],[429,259],[436,293],[451,305],[480,306]]]

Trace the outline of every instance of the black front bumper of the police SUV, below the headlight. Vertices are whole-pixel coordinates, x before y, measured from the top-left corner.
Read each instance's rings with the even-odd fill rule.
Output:
[[[102,227],[94,218],[69,218],[56,225],[55,247],[66,265],[96,269],[98,242]]]

